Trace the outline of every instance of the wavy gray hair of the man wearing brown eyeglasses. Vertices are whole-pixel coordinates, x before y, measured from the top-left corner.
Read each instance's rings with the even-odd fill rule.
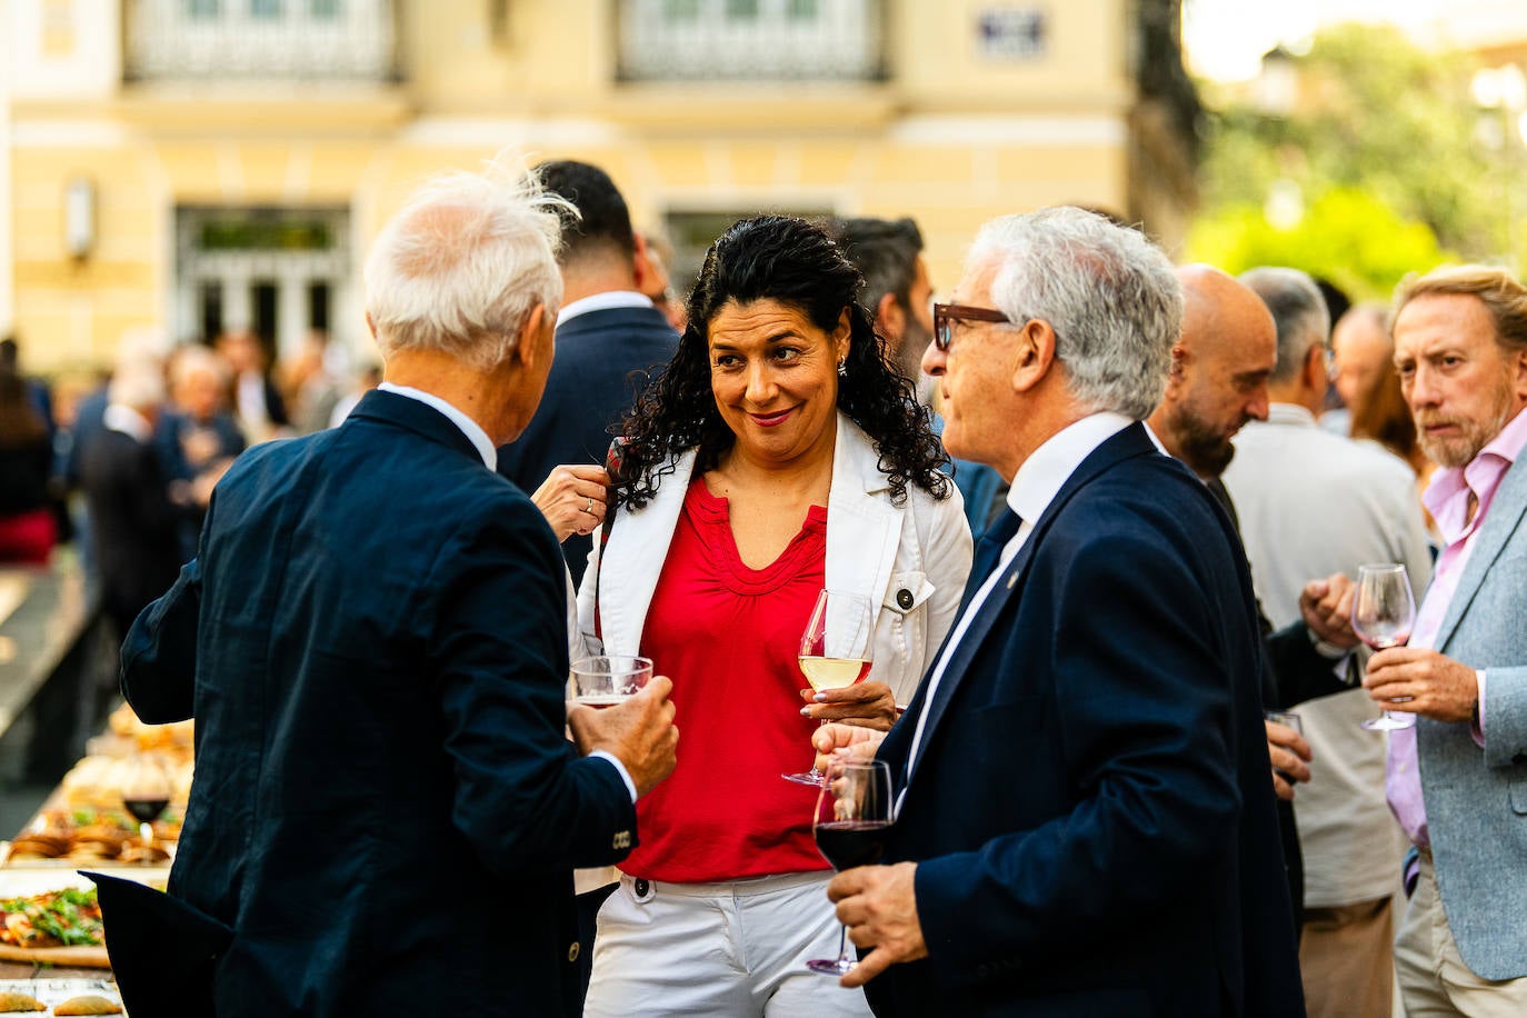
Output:
[[[1159,247],[1096,212],[1058,206],[982,226],[968,264],[985,263],[997,266],[997,308],[1055,330],[1081,409],[1150,417],[1182,336],[1182,287]]]

